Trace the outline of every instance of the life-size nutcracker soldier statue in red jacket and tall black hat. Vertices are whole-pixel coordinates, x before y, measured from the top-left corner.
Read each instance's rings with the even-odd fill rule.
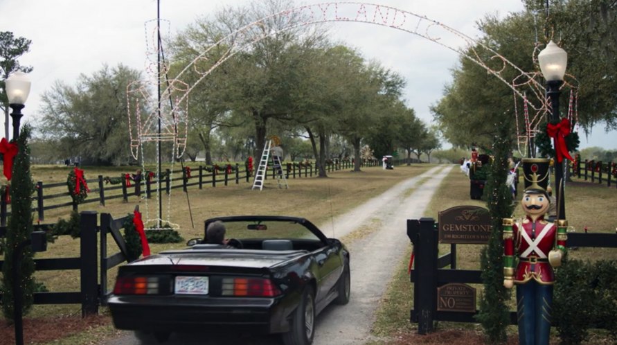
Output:
[[[549,159],[523,159],[525,193],[521,206],[526,216],[503,220],[503,285],[517,285],[519,344],[548,345],[553,302],[553,267],[561,265],[566,250],[566,220],[544,219],[551,201]],[[557,201],[559,202],[559,201]]]

